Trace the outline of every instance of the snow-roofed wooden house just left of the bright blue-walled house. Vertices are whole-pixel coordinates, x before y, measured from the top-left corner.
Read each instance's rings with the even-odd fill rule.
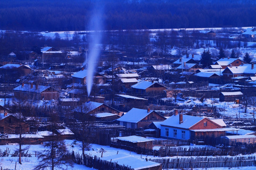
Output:
[[[119,124],[127,128],[148,127],[152,122],[163,121],[166,118],[155,110],[132,108],[124,116],[117,119]]]

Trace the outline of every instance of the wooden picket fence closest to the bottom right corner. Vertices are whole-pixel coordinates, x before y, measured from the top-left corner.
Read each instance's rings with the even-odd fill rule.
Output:
[[[214,167],[230,168],[230,167],[256,166],[255,156],[149,159],[149,161],[161,163],[163,166],[163,169],[214,168]]]

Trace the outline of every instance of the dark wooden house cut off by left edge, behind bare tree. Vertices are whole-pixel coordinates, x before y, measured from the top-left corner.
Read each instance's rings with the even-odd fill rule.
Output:
[[[9,113],[0,113],[0,134],[18,134],[20,130],[19,124],[23,134],[29,133],[28,123]]]

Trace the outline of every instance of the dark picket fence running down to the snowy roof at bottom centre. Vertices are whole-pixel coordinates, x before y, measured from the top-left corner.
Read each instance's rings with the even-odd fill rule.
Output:
[[[97,170],[134,170],[131,167],[126,165],[119,165],[117,162],[111,162],[102,160],[100,157],[97,156],[90,156],[85,154],[84,156],[80,155],[79,153],[67,153],[68,156],[72,156],[74,163],[79,165],[85,165],[90,168],[94,168]]]

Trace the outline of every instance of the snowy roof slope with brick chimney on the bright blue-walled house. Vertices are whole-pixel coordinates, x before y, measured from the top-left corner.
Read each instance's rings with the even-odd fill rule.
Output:
[[[183,123],[180,124],[179,115],[173,115],[170,118],[163,121],[161,125],[188,129],[188,128],[192,127],[193,125],[195,125],[196,123],[198,123],[199,121],[201,121],[202,119],[204,119],[204,118],[183,115]]]

